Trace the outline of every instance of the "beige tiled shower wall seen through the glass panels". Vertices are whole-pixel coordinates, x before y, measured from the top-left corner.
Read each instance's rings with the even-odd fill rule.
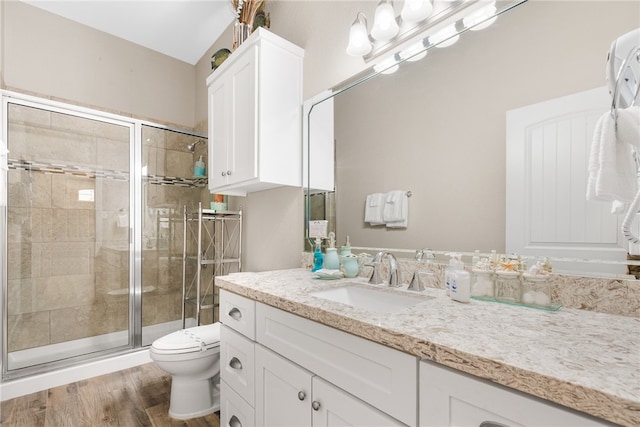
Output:
[[[9,123],[9,351],[126,330],[129,128],[14,104]],[[143,325],[181,317],[183,206],[208,200],[194,140],[143,127]]]

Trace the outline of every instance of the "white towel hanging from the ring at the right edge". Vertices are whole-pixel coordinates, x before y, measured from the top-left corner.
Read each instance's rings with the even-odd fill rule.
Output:
[[[587,200],[628,202],[636,193],[636,167],[632,147],[616,138],[610,112],[596,124],[589,155]]]

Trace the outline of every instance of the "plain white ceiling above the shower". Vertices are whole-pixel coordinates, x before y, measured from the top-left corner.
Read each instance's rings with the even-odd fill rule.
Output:
[[[195,64],[233,20],[230,0],[22,0]]]

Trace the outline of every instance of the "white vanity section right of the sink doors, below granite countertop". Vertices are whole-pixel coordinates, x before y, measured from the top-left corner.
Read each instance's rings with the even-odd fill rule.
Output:
[[[610,425],[431,362],[420,363],[420,426]]]

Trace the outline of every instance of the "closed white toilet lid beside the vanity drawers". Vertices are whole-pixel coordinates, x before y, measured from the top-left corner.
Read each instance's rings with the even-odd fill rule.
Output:
[[[158,354],[204,351],[220,345],[220,323],[182,329],[158,338],[151,349]]]

